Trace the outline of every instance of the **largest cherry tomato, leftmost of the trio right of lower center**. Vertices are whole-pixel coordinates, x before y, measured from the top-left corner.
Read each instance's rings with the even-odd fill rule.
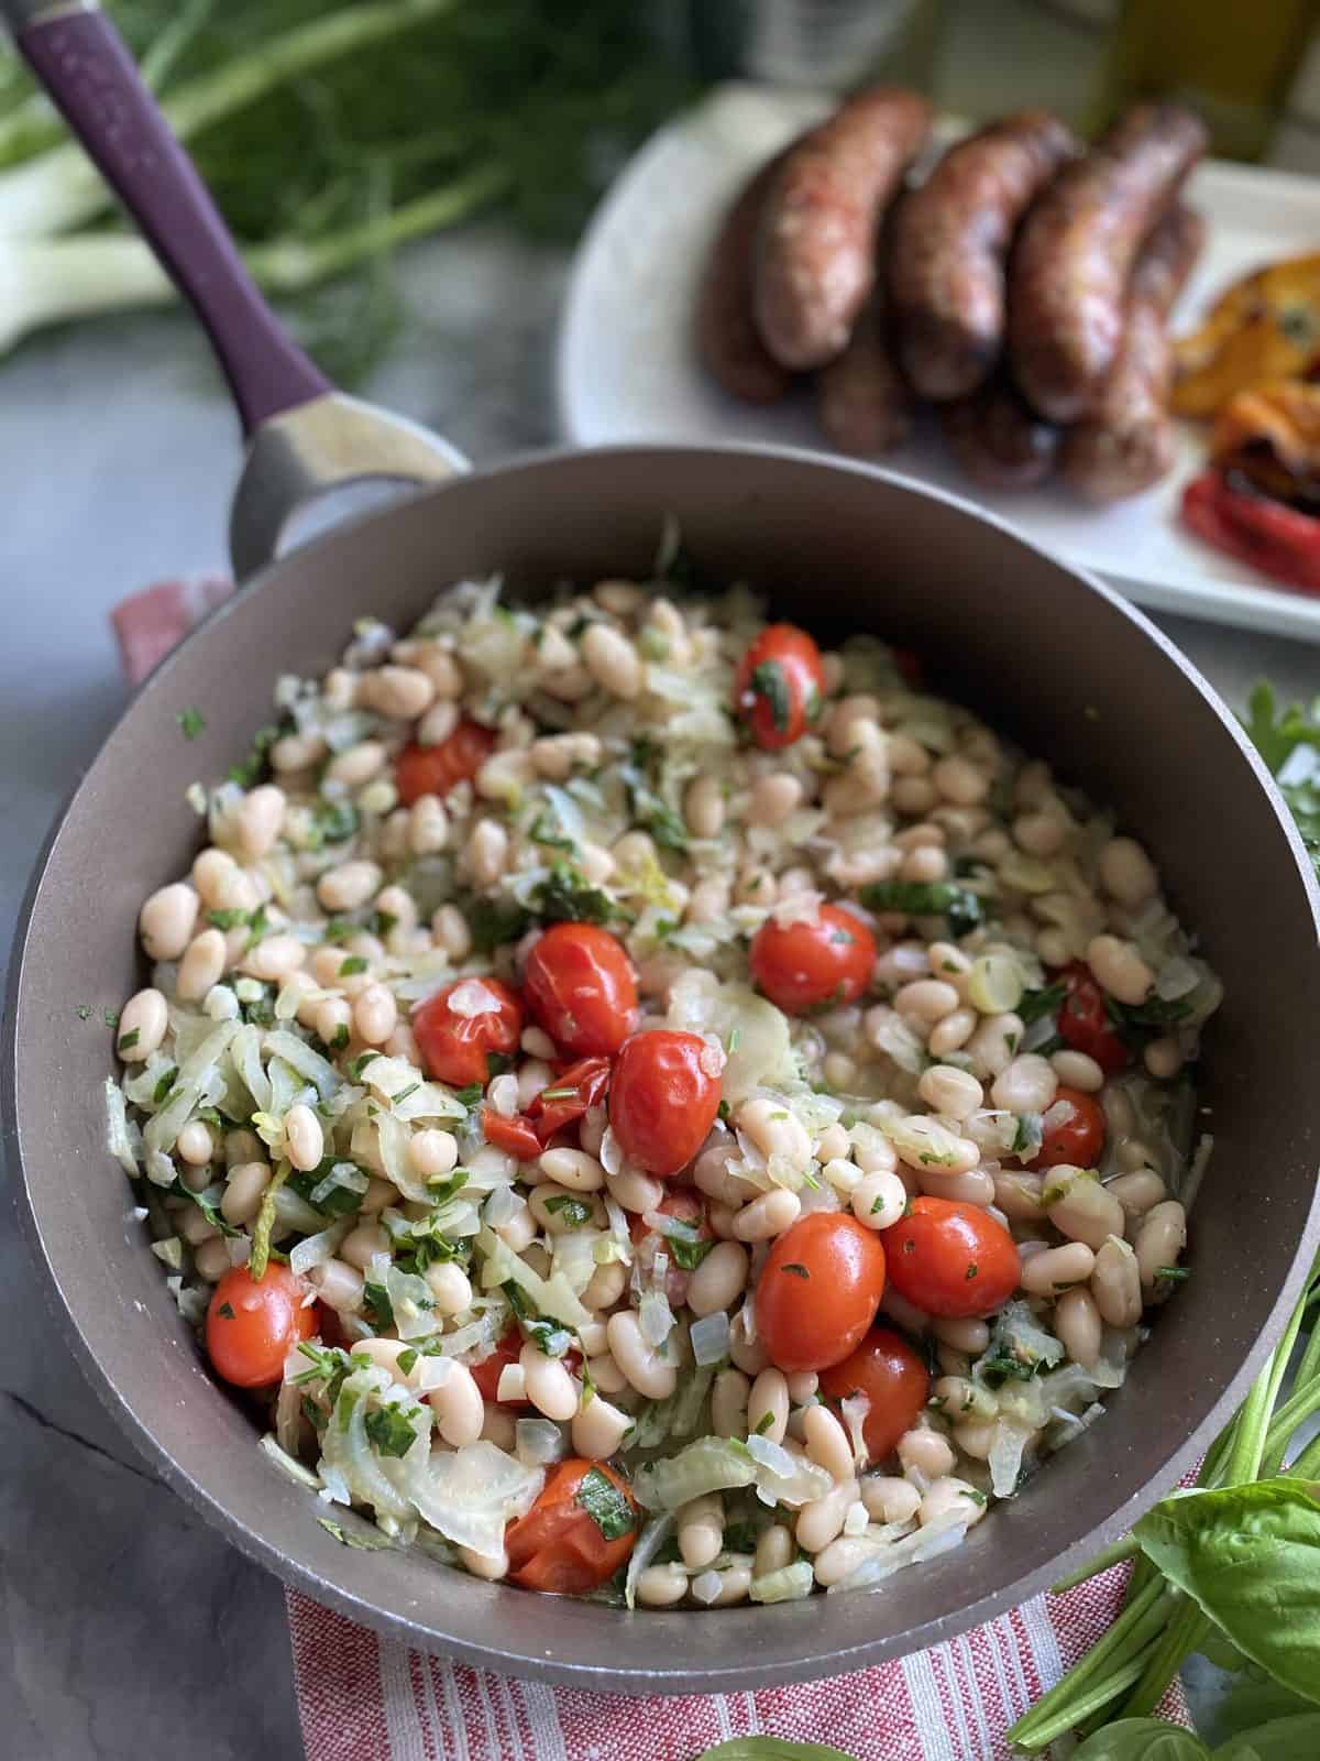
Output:
[[[857,1349],[885,1294],[885,1250],[847,1212],[811,1212],[771,1247],[757,1280],[757,1333],[787,1375]]]

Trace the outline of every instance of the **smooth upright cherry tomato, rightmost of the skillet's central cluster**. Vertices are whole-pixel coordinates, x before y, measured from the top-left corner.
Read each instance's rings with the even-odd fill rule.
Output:
[[[609,1124],[648,1175],[686,1168],[720,1111],[720,1055],[697,1034],[634,1034],[614,1060]]]

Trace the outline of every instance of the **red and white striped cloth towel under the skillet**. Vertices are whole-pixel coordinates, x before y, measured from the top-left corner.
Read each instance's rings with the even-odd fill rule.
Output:
[[[113,611],[136,683],[229,592],[162,581]],[[419,1560],[419,1571],[436,1569]],[[692,1761],[730,1736],[832,1743],[855,1761],[1008,1761],[1008,1726],[1100,1638],[1126,1567],[1038,1595],[899,1662],[755,1694],[625,1699],[429,1657],[289,1592],[308,1761]],[[637,1617],[644,1618],[644,1617]],[[720,1615],[693,1618],[718,1620]],[[1186,1720],[1174,1687],[1160,1708]]]

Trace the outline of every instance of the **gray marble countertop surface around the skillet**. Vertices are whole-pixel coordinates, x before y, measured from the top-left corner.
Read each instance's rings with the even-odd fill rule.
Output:
[[[553,437],[565,257],[468,229],[414,254],[412,331],[370,394],[477,463]],[[109,608],[224,565],[234,417],[183,319],[93,326],[0,373],[0,925],[125,689]],[[1223,694],[1311,694],[1320,655],[1162,620]],[[9,933],[0,933],[0,949]],[[301,1754],[280,1585],[137,1462],[42,1323],[0,1229],[0,1750],[9,1761]]]

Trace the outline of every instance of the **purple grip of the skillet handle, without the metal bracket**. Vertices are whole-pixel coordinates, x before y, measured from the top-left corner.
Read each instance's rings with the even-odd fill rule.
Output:
[[[0,0],[18,48],[190,301],[245,435],[331,391],[243,268],[192,160],[111,21],[62,0]]]

